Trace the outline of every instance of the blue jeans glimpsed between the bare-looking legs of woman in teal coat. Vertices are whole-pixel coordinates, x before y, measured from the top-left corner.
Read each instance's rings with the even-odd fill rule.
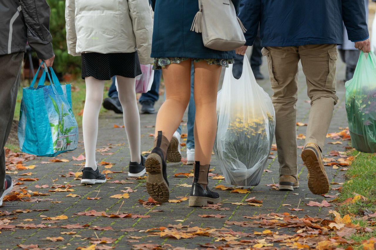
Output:
[[[193,96],[193,90],[194,90],[194,67],[193,63],[191,66],[191,98],[189,100],[188,104],[188,121],[187,121],[187,148],[193,149],[194,148],[194,118],[196,116],[196,106],[194,105],[194,96]],[[179,126],[176,130],[179,132],[179,134],[182,134],[182,126]]]

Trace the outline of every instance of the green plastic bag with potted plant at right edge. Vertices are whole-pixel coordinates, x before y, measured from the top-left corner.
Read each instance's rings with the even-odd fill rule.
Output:
[[[376,152],[376,57],[361,52],[354,77],[346,82],[346,112],[352,146]]]

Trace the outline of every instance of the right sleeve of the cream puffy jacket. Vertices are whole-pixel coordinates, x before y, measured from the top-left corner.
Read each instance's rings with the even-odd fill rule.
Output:
[[[152,52],[153,21],[148,0],[128,0],[136,48],[141,64],[153,63]]]

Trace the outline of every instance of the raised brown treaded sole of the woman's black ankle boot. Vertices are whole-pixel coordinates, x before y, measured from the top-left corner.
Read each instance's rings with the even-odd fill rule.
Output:
[[[168,185],[163,178],[162,173],[162,159],[158,154],[150,154],[146,161],[145,167],[147,175],[146,190],[149,195],[157,202],[168,202],[170,198],[170,191]]]

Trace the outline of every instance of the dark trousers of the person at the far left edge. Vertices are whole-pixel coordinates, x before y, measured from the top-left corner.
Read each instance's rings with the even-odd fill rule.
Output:
[[[11,132],[24,53],[0,56],[0,196],[5,190],[4,146]]]

